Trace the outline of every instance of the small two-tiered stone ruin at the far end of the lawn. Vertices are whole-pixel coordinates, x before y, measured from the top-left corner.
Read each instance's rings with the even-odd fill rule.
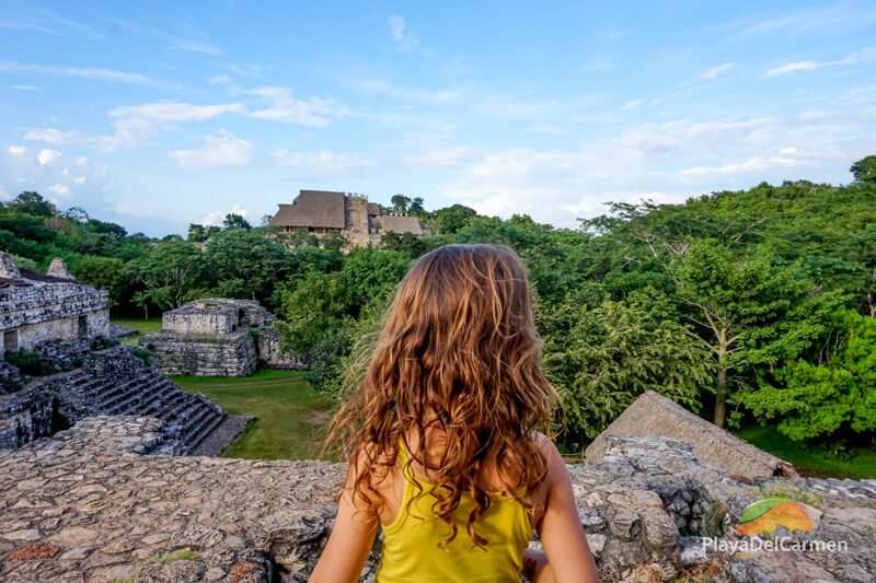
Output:
[[[306,369],[303,357],[280,351],[270,312],[254,300],[214,298],[189,302],[161,316],[161,331],[140,339],[165,374],[246,376],[261,362],[269,369]]]

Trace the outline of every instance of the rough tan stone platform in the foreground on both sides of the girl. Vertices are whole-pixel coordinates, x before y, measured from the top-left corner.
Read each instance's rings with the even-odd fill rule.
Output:
[[[0,580],[307,581],[343,465],[149,455],[162,439],[154,419],[100,418],[0,452]],[[876,573],[876,480],[739,481],[655,436],[609,438],[601,463],[568,469],[602,581],[871,582]],[[738,543],[742,509],[776,490],[809,501],[815,529],[794,540],[845,550],[703,547],[705,536]],[[373,581],[379,555],[378,539],[362,581]]]

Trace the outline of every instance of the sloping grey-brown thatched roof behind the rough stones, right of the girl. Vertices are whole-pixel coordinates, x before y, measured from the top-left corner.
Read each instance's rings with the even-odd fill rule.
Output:
[[[794,466],[719,429],[653,390],[627,407],[585,451],[590,463],[602,460],[608,435],[664,435],[693,445],[696,457],[728,474],[796,476]]]

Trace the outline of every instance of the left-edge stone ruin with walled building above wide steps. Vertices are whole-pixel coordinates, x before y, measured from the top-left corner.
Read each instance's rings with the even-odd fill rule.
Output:
[[[219,453],[243,430],[247,419],[184,393],[148,353],[110,338],[107,293],[73,279],[64,261],[42,275],[0,259],[3,352],[31,359],[34,369],[0,360],[0,450],[107,415],[161,419],[161,451],[176,455]]]

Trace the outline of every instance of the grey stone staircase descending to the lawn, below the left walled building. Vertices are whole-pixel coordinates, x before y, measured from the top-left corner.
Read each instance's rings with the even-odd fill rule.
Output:
[[[106,415],[155,416],[164,423],[159,451],[174,455],[197,452],[228,417],[204,395],[184,393],[129,347],[119,346],[89,351],[80,368],[34,377],[21,390],[0,395],[0,450],[48,435],[54,420],[78,423]]]

